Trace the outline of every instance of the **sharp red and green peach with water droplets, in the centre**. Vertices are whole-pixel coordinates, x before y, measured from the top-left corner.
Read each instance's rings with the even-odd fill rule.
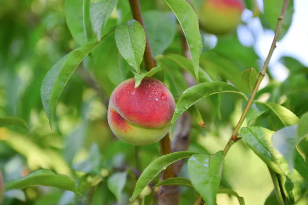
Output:
[[[149,145],[168,132],[175,99],[158,79],[144,78],[134,88],[133,78],[118,85],[111,94],[108,123],[119,139],[132,145]]]

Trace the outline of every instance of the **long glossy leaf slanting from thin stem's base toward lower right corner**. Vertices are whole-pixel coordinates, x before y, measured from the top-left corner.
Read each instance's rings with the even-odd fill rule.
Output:
[[[247,145],[266,163],[269,169],[278,174],[284,186],[284,195],[287,195],[288,200],[294,203],[308,189],[308,185],[299,173],[302,173],[299,167],[294,167],[293,172],[290,172],[287,161],[272,145],[273,134],[273,131],[261,127],[241,129],[241,136]]]

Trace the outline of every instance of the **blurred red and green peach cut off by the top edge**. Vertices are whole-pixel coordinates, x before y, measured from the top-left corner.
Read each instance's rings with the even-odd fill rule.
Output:
[[[243,0],[205,0],[196,8],[201,29],[215,35],[232,32],[241,22]]]

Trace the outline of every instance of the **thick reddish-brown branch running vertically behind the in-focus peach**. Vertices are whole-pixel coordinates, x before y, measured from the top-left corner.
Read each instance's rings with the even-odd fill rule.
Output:
[[[145,51],[144,51],[144,62],[145,62],[145,67],[148,71],[150,71],[152,68],[156,67],[156,62],[152,56],[152,51],[151,47],[149,44],[149,40],[147,37],[147,33],[144,27],[143,19],[142,19],[142,14],[141,14],[141,8],[140,8],[140,2],[139,0],[129,0],[129,5],[130,5],[130,10],[132,13],[132,17],[137,20],[143,27],[145,31],[145,36],[146,36],[146,44],[145,44]],[[160,147],[161,147],[161,154],[169,154],[171,153],[171,147],[170,147],[170,138],[169,134],[167,134],[161,141],[160,141]],[[174,177],[174,171],[173,167],[170,165],[169,167],[166,168],[164,171],[164,179]]]

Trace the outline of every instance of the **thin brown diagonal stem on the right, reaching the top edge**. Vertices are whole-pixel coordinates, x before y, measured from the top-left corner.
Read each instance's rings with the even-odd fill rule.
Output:
[[[272,43],[272,46],[271,46],[271,49],[269,49],[269,52],[268,52],[268,55],[266,57],[266,60],[264,62],[264,66],[261,70],[261,72],[259,73],[258,75],[258,78],[257,78],[257,83],[254,87],[254,90],[252,92],[252,95],[251,97],[249,98],[245,108],[244,108],[244,111],[243,111],[243,114],[237,124],[237,126],[235,127],[234,129],[234,132],[232,133],[232,136],[230,137],[229,141],[227,142],[227,145],[226,147],[224,148],[223,152],[224,152],[224,155],[227,154],[227,152],[229,151],[230,147],[237,141],[239,140],[239,138],[237,137],[238,135],[238,132],[247,116],[247,113],[249,111],[249,109],[252,107],[252,104],[253,104],[253,101],[254,101],[254,98],[258,92],[258,89],[260,87],[260,84],[262,82],[262,79],[264,78],[265,76],[265,73],[266,73],[266,69],[268,67],[268,64],[269,64],[269,60],[271,60],[271,57],[273,55],[273,52],[276,48],[276,43],[277,43],[277,39],[278,39],[278,35],[279,35],[279,32],[280,32],[280,29],[281,29],[281,26],[282,26],[282,22],[283,22],[283,17],[285,15],[285,11],[286,11],[286,7],[287,7],[287,4],[288,4],[288,1],[289,0],[284,0],[284,5],[283,5],[283,8],[282,8],[282,12],[278,18],[278,23],[277,23],[277,28],[276,28],[276,31],[275,31],[275,36],[274,36],[274,39],[273,39],[273,43]]]

